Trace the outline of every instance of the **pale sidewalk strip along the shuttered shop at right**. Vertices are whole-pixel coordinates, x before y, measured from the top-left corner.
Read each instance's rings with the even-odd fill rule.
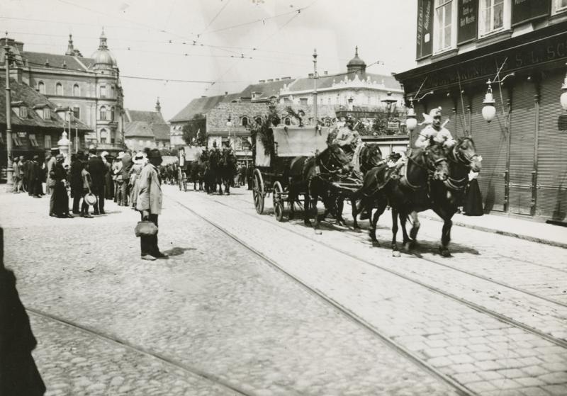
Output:
[[[429,220],[441,222],[433,210],[420,213],[420,216]],[[535,222],[505,215],[483,215],[465,216],[456,214],[453,216],[453,225],[472,228],[485,232],[507,235],[528,241],[549,244],[552,246],[567,248],[567,227]]]

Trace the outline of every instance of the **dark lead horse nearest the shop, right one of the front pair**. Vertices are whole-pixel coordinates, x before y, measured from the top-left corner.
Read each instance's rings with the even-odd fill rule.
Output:
[[[420,229],[420,221],[417,213],[423,210],[432,209],[443,220],[441,232],[441,246],[439,253],[444,257],[451,256],[448,249],[451,241],[451,227],[453,222],[451,218],[457,212],[460,203],[463,200],[464,192],[468,184],[468,173],[472,170],[480,172],[482,169],[482,157],[476,153],[476,147],[470,137],[461,137],[457,140],[452,149],[447,152],[447,160],[449,161],[449,176],[446,180],[435,180],[430,184],[428,205],[423,203],[420,205],[412,205],[409,213],[399,213],[400,223],[403,232],[403,239],[406,248],[415,245],[417,232]],[[405,221],[410,215],[412,218],[412,229],[410,237],[405,230]],[[397,228],[398,210],[393,208],[392,220],[396,222]]]

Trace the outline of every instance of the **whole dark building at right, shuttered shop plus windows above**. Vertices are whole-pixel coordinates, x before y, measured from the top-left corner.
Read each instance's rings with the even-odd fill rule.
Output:
[[[453,135],[473,137],[485,212],[565,221],[567,1],[420,0],[417,11],[418,65],[395,76],[408,104],[441,106]]]

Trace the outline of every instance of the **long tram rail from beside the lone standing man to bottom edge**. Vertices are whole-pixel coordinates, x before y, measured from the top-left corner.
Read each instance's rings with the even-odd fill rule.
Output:
[[[456,380],[454,380],[453,378],[449,377],[449,375],[445,375],[444,373],[442,373],[440,370],[438,370],[437,368],[435,368],[434,366],[430,365],[429,363],[427,363],[426,361],[424,361],[422,358],[420,358],[419,356],[417,356],[417,354],[413,353],[412,351],[410,351],[409,349],[406,349],[403,345],[401,345],[400,343],[394,341],[393,339],[391,339],[389,336],[387,336],[386,334],[384,334],[383,332],[381,332],[379,329],[377,329],[373,324],[371,324],[370,322],[366,321],[363,317],[360,317],[359,315],[357,315],[355,312],[353,312],[352,310],[349,310],[348,307],[345,307],[344,305],[342,305],[340,302],[338,302],[337,300],[330,298],[330,296],[326,295],[325,293],[323,293],[320,290],[317,290],[316,288],[311,287],[310,285],[308,285],[307,283],[305,283],[304,281],[302,281],[300,278],[298,278],[297,276],[293,275],[293,273],[291,273],[290,271],[286,271],[286,269],[282,268],[282,266],[280,266],[276,261],[270,259],[268,256],[266,256],[265,254],[262,253],[262,251],[259,251],[258,249],[254,248],[251,244],[248,244],[247,242],[245,242],[244,240],[242,240],[241,238],[237,237],[237,235],[233,234],[232,232],[230,232],[229,230],[227,230],[225,227],[218,225],[216,222],[209,220],[207,217],[201,215],[200,213],[198,213],[196,210],[193,210],[191,208],[189,208],[189,206],[185,205],[184,203],[182,203],[181,201],[179,201],[176,198],[173,198],[172,196],[168,197],[171,200],[174,200],[175,203],[177,203],[178,205],[180,205],[181,207],[185,208],[186,210],[189,210],[189,212],[191,212],[193,215],[195,215],[196,217],[200,218],[201,220],[207,222],[208,224],[212,225],[213,227],[215,227],[217,230],[219,230],[220,232],[223,232],[223,234],[227,235],[228,237],[230,237],[231,239],[233,239],[235,242],[237,242],[238,244],[242,245],[243,247],[245,247],[246,249],[248,249],[249,251],[251,251],[253,254],[259,256],[260,259],[266,261],[267,264],[269,264],[270,266],[276,268],[278,271],[281,271],[281,273],[283,273],[284,275],[288,276],[288,278],[291,278],[293,281],[295,281],[296,283],[300,284],[303,286],[303,288],[307,289],[310,293],[313,293],[313,295],[318,296],[318,298],[321,298],[322,300],[324,300],[325,302],[327,302],[328,304],[332,305],[333,307],[335,307],[335,309],[339,310],[339,312],[342,313],[342,315],[345,315],[346,317],[348,317],[349,319],[351,319],[353,322],[359,324],[361,327],[364,327],[365,329],[367,329],[369,332],[371,332],[372,334],[374,334],[375,336],[378,337],[378,339],[381,339],[381,341],[383,341],[385,344],[387,344],[388,346],[390,346],[394,351],[397,351],[398,353],[400,353],[401,356],[404,356],[405,358],[408,358],[410,361],[412,361],[413,363],[415,363],[417,366],[425,368],[425,370],[427,370],[428,372],[432,373],[432,375],[434,375],[435,377],[439,378],[440,380],[444,381],[444,383],[447,383],[448,385],[450,385],[451,387],[454,388],[454,390],[456,390],[456,392],[459,395],[462,396],[475,396],[476,392],[472,392],[471,390],[469,390],[467,387],[465,387],[464,385],[461,385],[459,382],[457,382]],[[217,203],[220,203],[218,201],[215,201]],[[224,203],[220,203],[221,205],[225,205]],[[226,205],[228,206],[228,205]],[[230,208],[230,207],[229,207]],[[234,209],[234,208],[232,208]],[[237,209],[235,209],[237,210]],[[244,213],[240,210],[237,210],[241,213]],[[303,235],[302,235],[303,236]],[[357,259],[357,258],[354,258]]]

